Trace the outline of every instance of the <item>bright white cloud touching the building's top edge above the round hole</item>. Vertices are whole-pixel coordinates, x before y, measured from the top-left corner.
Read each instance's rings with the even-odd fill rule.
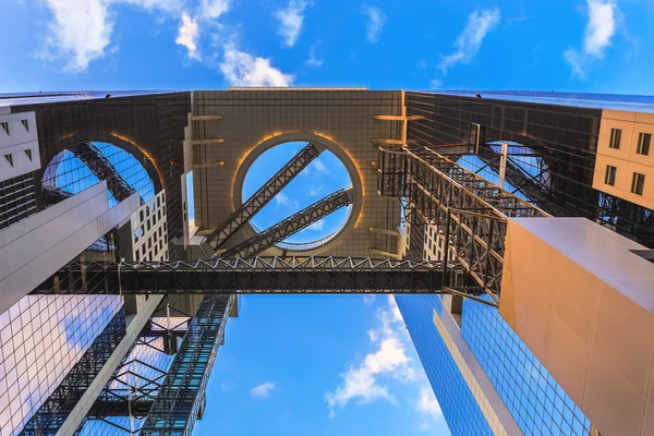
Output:
[[[294,78],[270,65],[270,59],[240,51],[233,43],[225,46],[220,71],[232,86],[290,86]]]

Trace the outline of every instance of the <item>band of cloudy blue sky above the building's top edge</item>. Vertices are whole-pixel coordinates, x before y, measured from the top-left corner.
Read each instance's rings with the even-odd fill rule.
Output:
[[[271,84],[654,92],[650,0],[2,3],[4,92]]]

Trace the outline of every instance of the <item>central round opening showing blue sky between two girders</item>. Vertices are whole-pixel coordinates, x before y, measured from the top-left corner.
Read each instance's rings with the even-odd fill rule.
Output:
[[[304,146],[306,142],[288,142],[264,152],[247,169],[241,202],[247,201]],[[352,180],[343,162],[331,152],[324,150],[255,215],[250,225],[256,232],[261,232],[327,195],[351,185]],[[348,222],[351,209],[351,205],[340,208],[287,238],[277,246],[287,250],[311,250],[326,244]]]

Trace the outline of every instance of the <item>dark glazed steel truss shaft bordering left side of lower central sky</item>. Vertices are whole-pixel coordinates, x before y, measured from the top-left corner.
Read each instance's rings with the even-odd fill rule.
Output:
[[[204,413],[205,391],[233,295],[206,295],[164,378],[141,435],[191,435]]]

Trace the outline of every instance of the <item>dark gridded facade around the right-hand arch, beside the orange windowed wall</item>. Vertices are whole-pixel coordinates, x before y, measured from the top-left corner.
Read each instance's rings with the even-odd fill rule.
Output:
[[[492,145],[501,142],[521,144],[547,167],[547,179],[529,181],[531,191],[540,194],[538,207],[554,216],[591,219],[654,246],[651,210],[592,187],[601,109],[506,101],[491,95],[405,95],[408,114],[423,117],[409,121],[409,141],[436,148],[465,145],[471,126],[477,124],[484,152],[494,152]]]

